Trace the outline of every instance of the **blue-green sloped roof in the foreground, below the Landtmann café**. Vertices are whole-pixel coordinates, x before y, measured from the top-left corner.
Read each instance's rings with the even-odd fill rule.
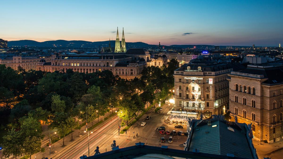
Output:
[[[252,158],[250,148],[244,132],[227,129],[227,125],[221,121],[215,121],[210,126],[197,127],[194,123],[194,132],[189,151],[197,149],[200,153],[210,154],[234,154],[235,157]],[[212,127],[212,125],[217,125]]]

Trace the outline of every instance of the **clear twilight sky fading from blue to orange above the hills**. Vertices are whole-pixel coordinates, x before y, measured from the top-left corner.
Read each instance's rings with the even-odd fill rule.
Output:
[[[283,45],[283,2],[1,1],[0,38],[12,40],[120,40],[157,45]]]

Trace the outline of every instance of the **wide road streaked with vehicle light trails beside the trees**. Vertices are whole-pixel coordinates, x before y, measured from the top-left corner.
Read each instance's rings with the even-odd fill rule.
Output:
[[[121,122],[121,119],[120,119]],[[115,117],[111,121],[108,121],[105,125],[100,127],[95,132],[89,131],[89,154],[94,155],[97,146],[103,145],[110,140],[115,134],[118,133],[118,117]],[[88,136],[87,132],[84,132],[83,139],[79,143],[72,145],[62,153],[53,156],[54,159],[78,159],[80,156],[88,156]]]

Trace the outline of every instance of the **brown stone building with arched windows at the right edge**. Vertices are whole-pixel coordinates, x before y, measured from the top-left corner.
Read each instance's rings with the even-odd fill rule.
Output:
[[[231,72],[229,80],[230,116],[239,123],[252,123],[254,138],[273,143],[282,138],[282,60],[251,64]]]

